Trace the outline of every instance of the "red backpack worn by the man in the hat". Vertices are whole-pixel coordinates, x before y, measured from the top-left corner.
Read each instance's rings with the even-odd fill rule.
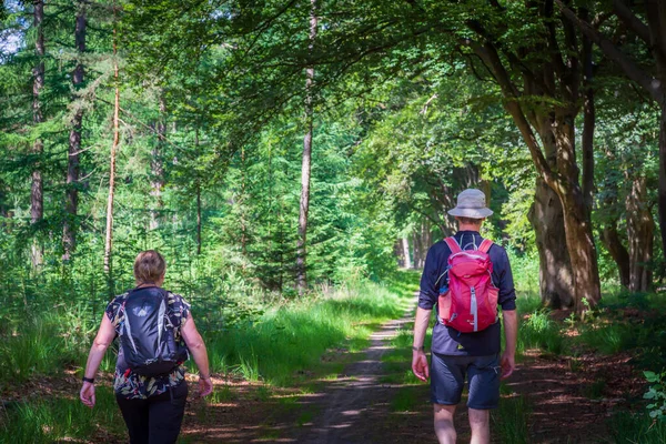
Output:
[[[497,322],[497,294],[493,284],[493,262],[485,239],[478,250],[462,250],[454,238],[444,240],[451,249],[448,285],[443,282],[437,303],[440,322],[458,332],[480,332]]]

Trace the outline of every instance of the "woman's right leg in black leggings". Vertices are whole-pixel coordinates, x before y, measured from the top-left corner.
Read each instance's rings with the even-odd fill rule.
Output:
[[[150,444],[175,443],[185,413],[188,400],[188,383],[183,381],[178,387],[169,392],[149,398],[149,430]]]

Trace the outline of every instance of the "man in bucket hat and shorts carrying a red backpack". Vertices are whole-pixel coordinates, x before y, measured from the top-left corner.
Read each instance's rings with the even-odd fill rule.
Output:
[[[427,252],[416,320],[412,371],[422,381],[431,379],[435,434],[440,443],[455,443],[455,407],[461,402],[465,377],[473,444],[491,442],[490,410],[500,401],[500,380],[515,369],[515,290],[506,251],[484,240],[478,231],[485,218],[485,194],[463,191],[457,205],[448,211],[458,232],[434,244]],[[502,306],[506,350],[501,352]],[[433,306],[437,322],[433,327],[431,367],[424,350],[425,333]]]

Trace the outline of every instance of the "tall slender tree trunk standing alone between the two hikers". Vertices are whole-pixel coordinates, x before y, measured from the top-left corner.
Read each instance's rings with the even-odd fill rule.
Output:
[[[316,39],[317,18],[316,0],[310,0],[310,46],[309,51],[314,49]],[[314,68],[305,70],[305,137],[303,138],[303,163],[301,167],[301,206],[299,212],[299,242],[296,245],[296,290],[303,294],[307,287],[306,276],[306,245],[307,245],[307,212],[310,210],[310,173],[312,160],[312,128],[313,128],[313,100],[312,87],[314,83]]]

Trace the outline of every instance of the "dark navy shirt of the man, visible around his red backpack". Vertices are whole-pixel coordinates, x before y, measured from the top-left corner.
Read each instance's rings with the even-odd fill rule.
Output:
[[[476,231],[458,231],[455,240],[463,250],[475,250],[483,242],[483,238]],[[447,282],[447,275],[444,275],[448,266],[448,256],[451,250],[444,241],[440,241],[427,252],[425,265],[421,276],[421,293],[418,295],[418,306],[425,310],[433,310],[440,296],[440,287]],[[502,310],[516,309],[516,292],[514,290],[513,274],[506,250],[501,245],[493,244],[488,250],[488,255],[493,262],[493,284],[500,289],[497,305]],[[434,353],[444,355],[470,355],[485,356],[500,353],[501,349],[501,325],[494,323],[486,330],[474,333],[461,333],[455,329],[443,325],[437,322],[433,327]]]

